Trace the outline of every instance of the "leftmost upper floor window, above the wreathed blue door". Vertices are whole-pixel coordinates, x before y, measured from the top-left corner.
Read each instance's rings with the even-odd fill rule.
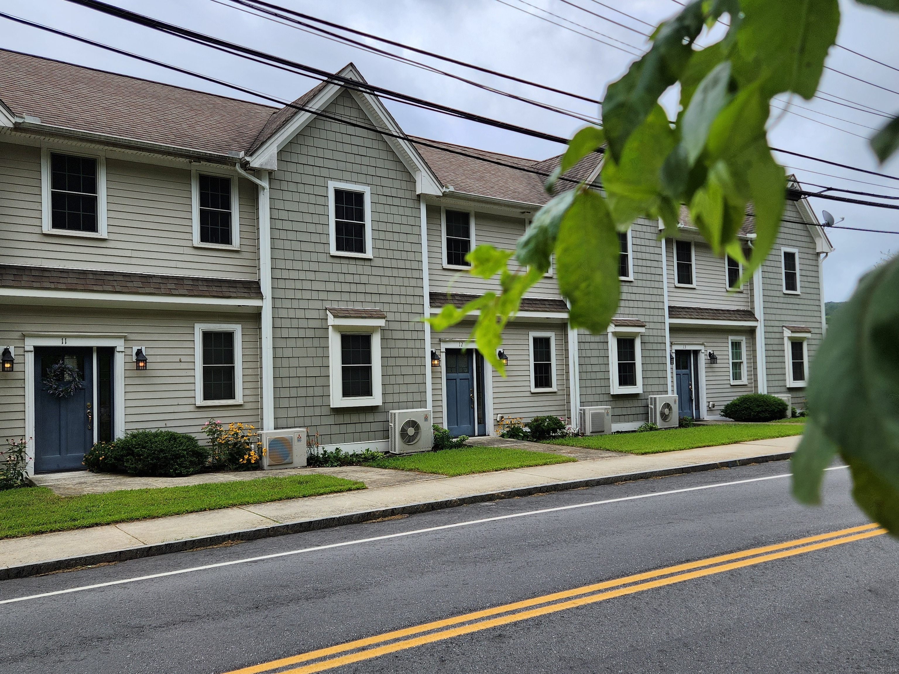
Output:
[[[42,228],[48,234],[106,235],[106,163],[102,155],[41,153]]]

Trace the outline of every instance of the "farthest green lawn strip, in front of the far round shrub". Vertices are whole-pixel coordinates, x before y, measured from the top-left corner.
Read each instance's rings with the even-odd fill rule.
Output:
[[[648,430],[644,433],[613,433],[583,438],[549,440],[554,445],[569,445],[592,449],[610,449],[628,454],[657,454],[678,449],[729,445],[732,442],[783,438],[801,435],[801,424],[721,423],[694,426],[690,429]]]

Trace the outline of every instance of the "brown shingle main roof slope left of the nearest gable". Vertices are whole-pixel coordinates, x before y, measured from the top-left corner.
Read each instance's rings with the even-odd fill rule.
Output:
[[[227,155],[277,110],[0,49],[0,99],[41,123]]]

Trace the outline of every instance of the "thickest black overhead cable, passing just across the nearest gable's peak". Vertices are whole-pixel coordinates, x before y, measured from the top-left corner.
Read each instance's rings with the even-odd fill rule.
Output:
[[[352,79],[352,77],[329,73],[328,71],[322,70],[321,68],[307,66],[306,64],[292,61],[289,58],[282,58],[279,56],[268,54],[258,49],[244,47],[243,45],[236,44],[235,42],[229,42],[227,40],[221,40],[204,33],[191,31],[189,29],[182,28],[181,26],[176,26],[173,23],[159,21],[143,14],[130,12],[129,10],[122,9],[121,7],[116,7],[112,4],[106,4],[100,2],[99,0],[68,0],[68,2],[73,4],[80,4],[81,6],[87,7],[88,9],[93,9],[94,11],[100,13],[109,14],[110,16],[114,16],[124,21],[136,23],[155,31],[167,33],[169,35],[174,35],[175,37],[205,45],[212,49],[218,49],[219,51],[223,51],[227,54],[232,54],[240,58],[247,58],[248,60],[252,60],[257,63],[260,62],[260,59],[262,59],[262,61],[267,65],[279,67],[282,70],[287,69],[289,72],[300,71],[298,74],[307,76],[313,75],[313,79],[319,79],[323,82],[338,82],[341,85],[345,86],[347,89],[351,89],[352,91],[378,94],[396,102],[409,103],[428,110],[449,114],[464,120],[475,121],[480,124],[495,127],[497,129],[514,131],[515,133],[521,133],[525,136],[536,137],[542,140],[549,140],[561,145],[565,145],[568,142],[567,138],[564,137],[554,136],[553,134],[544,133],[543,131],[537,131],[535,129],[527,129],[516,124],[510,124],[508,122],[493,120],[489,117],[484,117],[483,115],[461,111],[456,108],[451,108],[448,105],[442,105],[441,103],[425,101],[424,99],[416,98],[415,96],[410,96],[405,93],[395,92],[391,89],[377,86],[375,84],[363,83],[358,80]]]

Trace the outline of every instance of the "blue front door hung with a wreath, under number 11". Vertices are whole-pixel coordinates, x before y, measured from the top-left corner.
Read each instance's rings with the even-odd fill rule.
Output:
[[[76,368],[82,387],[73,395],[51,395],[44,383],[58,362]],[[34,470],[83,470],[93,445],[93,349],[53,347],[34,350]]]

